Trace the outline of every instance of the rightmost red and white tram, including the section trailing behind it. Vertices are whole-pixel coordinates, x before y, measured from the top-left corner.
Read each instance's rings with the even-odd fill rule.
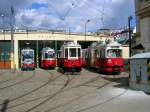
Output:
[[[117,42],[93,43],[88,48],[87,66],[103,72],[123,71],[122,46]]]

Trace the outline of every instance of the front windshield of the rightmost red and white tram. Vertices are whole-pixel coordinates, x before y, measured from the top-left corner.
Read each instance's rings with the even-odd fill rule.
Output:
[[[121,49],[109,49],[107,50],[107,56],[112,58],[117,58],[122,56]]]

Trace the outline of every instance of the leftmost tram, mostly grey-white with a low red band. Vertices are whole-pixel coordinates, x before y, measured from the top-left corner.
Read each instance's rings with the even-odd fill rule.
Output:
[[[34,50],[31,48],[25,48],[21,50],[21,70],[34,70]]]

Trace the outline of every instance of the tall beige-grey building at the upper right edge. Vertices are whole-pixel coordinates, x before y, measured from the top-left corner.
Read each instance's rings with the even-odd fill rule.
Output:
[[[132,39],[134,54],[150,51],[150,0],[135,0],[136,34]]]

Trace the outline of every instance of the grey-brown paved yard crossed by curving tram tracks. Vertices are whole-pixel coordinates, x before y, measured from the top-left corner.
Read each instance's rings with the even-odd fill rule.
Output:
[[[132,96],[127,84],[128,74],[125,72],[114,76],[85,69],[80,74],[42,69],[0,71],[0,108],[1,112],[120,112],[122,110],[117,105],[125,108],[130,99],[118,99]],[[139,94],[142,98],[145,95]],[[132,112],[135,111],[130,107]]]

